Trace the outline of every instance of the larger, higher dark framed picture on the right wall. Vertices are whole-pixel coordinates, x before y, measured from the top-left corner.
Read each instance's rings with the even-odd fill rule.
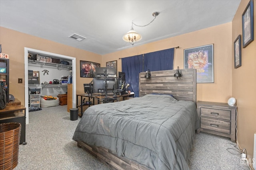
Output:
[[[250,0],[242,14],[243,48],[254,40],[253,0]]]

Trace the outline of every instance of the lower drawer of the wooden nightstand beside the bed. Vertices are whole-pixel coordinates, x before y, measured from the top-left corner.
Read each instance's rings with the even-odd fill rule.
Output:
[[[201,128],[230,134],[230,122],[201,117]]]

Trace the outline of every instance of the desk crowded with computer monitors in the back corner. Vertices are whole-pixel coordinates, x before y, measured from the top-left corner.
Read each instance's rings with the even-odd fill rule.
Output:
[[[100,104],[118,101],[120,97],[123,97],[123,100],[125,97],[134,97],[134,94],[127,93],[129,86],[130,84],[126,84],[124,72],[118,72],[117,77],[116,68],[96,67],[93,80],[89,84],[84,84],[84,94],[76,95],[76,108],[81,107],[78,115],[82,117],[83,106],[94,105],[95,99]]]

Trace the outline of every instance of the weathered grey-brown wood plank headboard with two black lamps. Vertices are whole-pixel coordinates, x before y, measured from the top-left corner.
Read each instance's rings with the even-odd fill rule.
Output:
[[[196,69],[180,69],[183,76],[174,77],[176,70],[152,71],[151,78],[140,73],[139,96],[146,94],[172,94],[177,100],[188,100],[196,104]]]

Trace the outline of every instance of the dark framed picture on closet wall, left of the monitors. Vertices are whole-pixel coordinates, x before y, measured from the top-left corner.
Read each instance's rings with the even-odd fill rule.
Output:
[[[96,67],[100,67],[100,64],[90,61],[80,61],[80,77],[94,77]]]

